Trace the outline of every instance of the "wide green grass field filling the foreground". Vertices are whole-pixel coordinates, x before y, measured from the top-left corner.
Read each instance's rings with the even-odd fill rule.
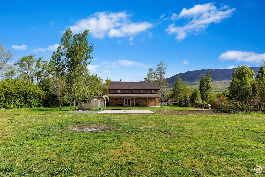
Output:
[[[254,176],[256,166],[265,169],[264,114],[67,109],[0,110],[0,176]],[[87,127],[102,129],[81,131]]]

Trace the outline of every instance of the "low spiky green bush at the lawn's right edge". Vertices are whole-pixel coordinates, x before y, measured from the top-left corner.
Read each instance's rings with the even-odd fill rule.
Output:
[[[250,113],[253,110],[254,106],[252,106],[251,104],[239,101],[222,102],[215,109],[215,111],[220,113],[238,113],[238,112]]]

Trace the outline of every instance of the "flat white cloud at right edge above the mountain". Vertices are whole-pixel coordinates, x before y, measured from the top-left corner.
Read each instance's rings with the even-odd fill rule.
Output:
[[[265,59],[265,53],[258,54],[252,51],[227,50],[219,56],[221,60],[236,60],[237,62],[255,62],[260,63]]]

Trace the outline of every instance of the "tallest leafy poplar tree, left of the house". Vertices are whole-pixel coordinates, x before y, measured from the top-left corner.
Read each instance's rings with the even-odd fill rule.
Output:
[[[88,30],[83,33],[72,34],[67,29],[61,39],[61,45],[53,52],[50,63],[52,64],[54,75],[61,77],[67,76],[67,84],[69,85],[70,97],[73,106],[76,101],[86,96],[86,83],[89,83],[89,59],[94,49],[94,44],[88,44]]]

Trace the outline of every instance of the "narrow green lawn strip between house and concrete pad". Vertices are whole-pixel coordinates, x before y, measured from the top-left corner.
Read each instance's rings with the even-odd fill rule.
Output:
[[[163,105],[163,107],[103,107],[104,109],[137,109],[137,110],[187,110],[187,109],[198,109],[197,107],[179,107],[173,105]]]

